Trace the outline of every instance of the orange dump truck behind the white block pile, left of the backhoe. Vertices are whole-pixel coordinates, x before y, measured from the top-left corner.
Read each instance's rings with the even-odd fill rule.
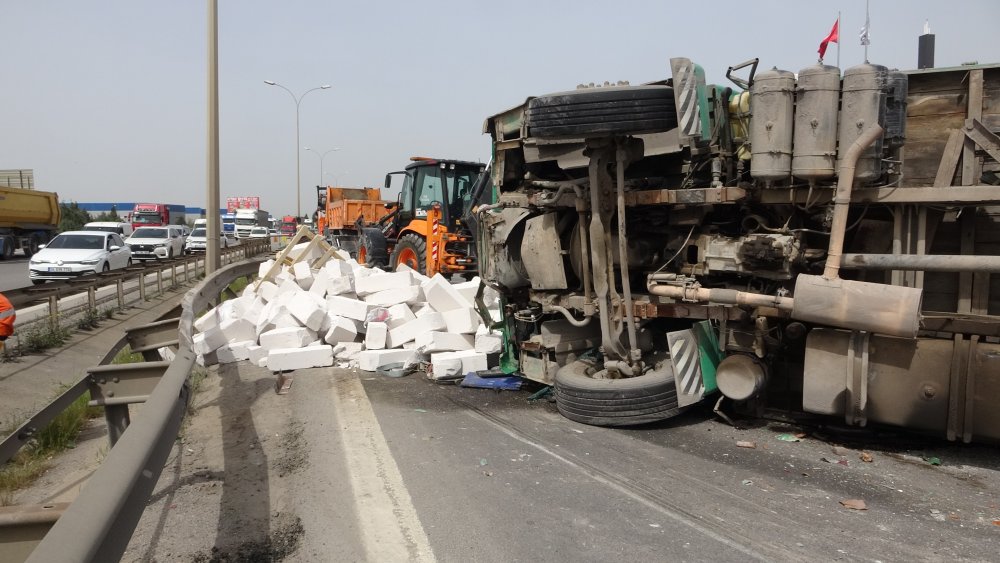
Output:
[[[387,202],[382,200],[382,190],[379,188],[321,186],[317,196],[317,232],[325,236],[330,244],[348,251],[351,256],[357,252],[358,219],[364,224],[370,224],[389,213]]]

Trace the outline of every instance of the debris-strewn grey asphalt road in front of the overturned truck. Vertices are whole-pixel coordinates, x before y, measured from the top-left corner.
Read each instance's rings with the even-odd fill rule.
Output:
[[[1000,545],[995,447],[845,445],[708,409],[596,428],[527,391],[343,369],[273,384],[245,364],[208,376],[125,561],[988,561]]]

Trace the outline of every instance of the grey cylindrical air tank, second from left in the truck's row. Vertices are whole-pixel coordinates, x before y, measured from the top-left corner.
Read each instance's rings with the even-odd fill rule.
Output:
[[[809,182],[832,178],[837,165],[840,69],[808,66],[795,89],[795,155],[792,175]]]

